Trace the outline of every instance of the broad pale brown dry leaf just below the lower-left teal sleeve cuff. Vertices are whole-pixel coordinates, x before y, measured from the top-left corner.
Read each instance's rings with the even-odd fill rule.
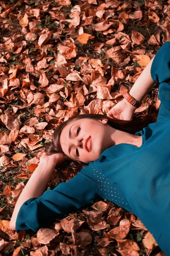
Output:
[[[40,228],[37,232],[37,241],[40,244],[49,244],[49,242],[58,235],[59,233],[55,230]]]

